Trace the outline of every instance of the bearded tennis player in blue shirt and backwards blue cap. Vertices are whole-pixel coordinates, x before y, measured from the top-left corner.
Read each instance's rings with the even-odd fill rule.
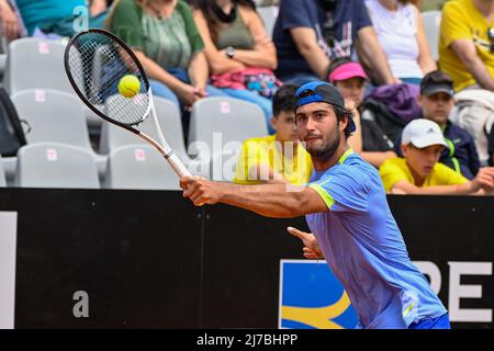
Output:
[[[314,173],[305,186],[238,185],[182,177],[197,206],[218,202],[268,217],[306,215],[314,233],[295,228],[305,257],[323,256],[343,283],[361,328],[449,329],[445,306],[412,263],[378,171],[347,144],[356,126],[338,90],[310,82],[296,91],[299,137]]]

